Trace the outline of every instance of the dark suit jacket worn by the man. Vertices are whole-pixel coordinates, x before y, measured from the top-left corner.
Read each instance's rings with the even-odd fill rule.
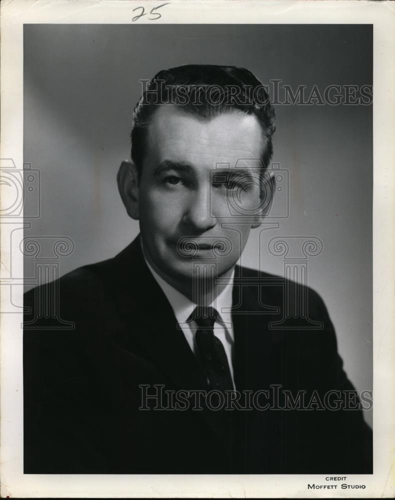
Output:
[[[278,384],[293,396],[305,391],[307,400],[314,390],[322,399],[328,390],[352,390],[319,296],[304,289],[309,317],[322,329],[298,319],[299,329],[273,329],[283,315],[284,280],[237,267],[240,277],[232,313],[236,389]],[[74,329],[36,317],[54,290],[61,319]],[[25,473],[372,472],[371,432],[360,410],[139,409],[140,384],[150,393],[154,384],[209,389],[138,238],[112,259],[30,290],[24,305]]]

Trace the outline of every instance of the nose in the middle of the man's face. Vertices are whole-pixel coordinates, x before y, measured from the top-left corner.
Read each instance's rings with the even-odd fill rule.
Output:
[[[212,216],[210,188],[201,187],[193,192],[183,217],[184,223],[196,232],[203,232],[215,225]]]

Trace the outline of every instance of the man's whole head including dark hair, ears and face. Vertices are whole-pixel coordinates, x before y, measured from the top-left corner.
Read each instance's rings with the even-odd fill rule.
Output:
[[[273,131],[268,95],[243,68],[163,70],[137,103],[119,190],[149,263],[184,293],[196,259],[229,273],[267,213]]]

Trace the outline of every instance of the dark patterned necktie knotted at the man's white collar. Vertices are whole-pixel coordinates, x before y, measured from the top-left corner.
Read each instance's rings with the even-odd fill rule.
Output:
[[[225,349],[213,332],[216,318],[217,311],[213,307],[197,306],[192,313],[192,319],[198,326],[196,345],[210,389],[223,392],[233,390],[233,383]]]

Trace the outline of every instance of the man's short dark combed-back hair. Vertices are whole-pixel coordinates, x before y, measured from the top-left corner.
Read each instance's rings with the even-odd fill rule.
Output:
[[[265,138],[261,160],[263,167],[267,167],[273,153],[271,136],[275,130],[275,114],[266,89],[248,69],[188,64],[156,73],[133,111],[131,159],[139,173],[147,146],[148,126],[161,104],[175,104],[202,118],[211,118],[235,108],[255,115]]]

